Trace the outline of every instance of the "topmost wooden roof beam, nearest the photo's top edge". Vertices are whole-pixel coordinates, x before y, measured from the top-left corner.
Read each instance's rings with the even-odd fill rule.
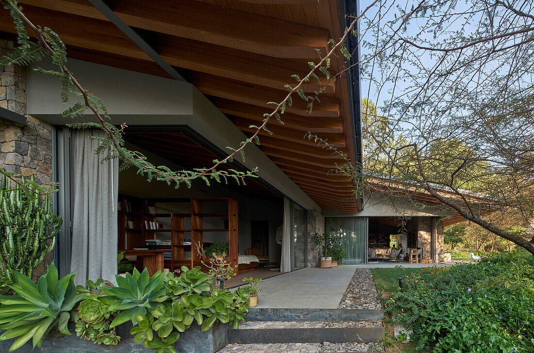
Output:
[[[45,1],[58,11],[101,18],[87,1]],[[191,0],[109,0],[107,4],[129,26],[270,57],[316,59],[315,49],[326,52],[329,39],[326,29]]]

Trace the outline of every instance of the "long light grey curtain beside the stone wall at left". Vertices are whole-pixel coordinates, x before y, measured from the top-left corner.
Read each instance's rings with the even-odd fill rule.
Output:
[[[117,274],[118,161],[101,163],[96,155],[101,130],[71,133],[73,174],[72,255],[70,269],[75,283],[103,278],[115,282]]]

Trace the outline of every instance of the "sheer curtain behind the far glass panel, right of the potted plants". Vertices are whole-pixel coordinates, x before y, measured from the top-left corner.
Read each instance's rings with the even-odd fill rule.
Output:
[[[325,231],[341,240],[343,263],[367,263],[367,217],[327,217]]]

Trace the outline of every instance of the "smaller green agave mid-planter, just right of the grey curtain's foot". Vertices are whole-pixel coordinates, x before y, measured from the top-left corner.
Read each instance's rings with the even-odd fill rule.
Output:
[[[108,295],[106,301],[111,303],[108,310],[120,311],[110,326],[115,327],[129,320],[135,326],[138,323],[137,316],[146,316],[158,303],[168,299],[163,289],[164,277],[165,274],[160,271],[150,277],[146,268],[141,273],[134,269],[131,275],[116,275],[116,287],[100,287]]]

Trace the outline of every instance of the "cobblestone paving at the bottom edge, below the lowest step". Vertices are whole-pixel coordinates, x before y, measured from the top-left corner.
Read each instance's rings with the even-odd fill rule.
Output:
[[[219,353],[319,353],[319,352],[382,352],[376,343],[257,343],[229,344]]]

